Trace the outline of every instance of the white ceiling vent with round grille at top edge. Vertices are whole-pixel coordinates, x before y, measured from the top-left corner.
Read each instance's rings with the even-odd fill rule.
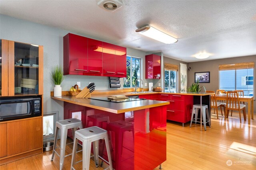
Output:
[[[99,0],[98,6],[108,11],[114,12],[118,8],[122,7],[123,2],[121,0]]]

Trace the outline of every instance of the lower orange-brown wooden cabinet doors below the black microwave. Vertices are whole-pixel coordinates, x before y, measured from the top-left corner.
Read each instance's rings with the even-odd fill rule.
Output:
[[[0,123],[0,165],[43,152],[42,117]]]

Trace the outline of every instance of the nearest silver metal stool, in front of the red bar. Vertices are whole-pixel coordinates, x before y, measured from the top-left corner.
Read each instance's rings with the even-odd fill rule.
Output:
[[[98,152],[98,140],[105,139],[106,149],[108,153],[108,161],[104,160],[102,157],[99,156]],[[98,167],[99,157],[109,164],[110,170],[113,170],[112,160],[111,160],[111,153],[110,153],[110,146],[108,142],[108,131],[104,130],[99,127],[88,127],[81,130],[76,130],[74,136],[74,145],[73,145],[73,153],[72,153],[72,160],[71,160],[71,169],[74,169],[74,164],[78,163],[75,162],[76,158],[76,150],[78,140],[83,142],[83,159],[78,162],[83,162],[83,170],[89,170],[90,167],[90,154],[91,154],[91,145],[93,145],[93,152],[94,152],[94,162],[96,167]]]

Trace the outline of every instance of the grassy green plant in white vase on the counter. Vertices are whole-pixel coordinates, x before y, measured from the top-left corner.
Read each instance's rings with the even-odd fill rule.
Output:
[[[55,84],[54,91],[53,91],[54,96],[61,96],[62,88],[60,87],[60,84],[64,80],[62,68],[59,66],[56,66],[52,70],[51,75],[52,75],[52,81]]]

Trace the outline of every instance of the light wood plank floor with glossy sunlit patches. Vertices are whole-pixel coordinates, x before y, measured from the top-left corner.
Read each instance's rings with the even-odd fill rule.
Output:
[[[181,123],[167,122],[167,160],[162,164],[163,170],[256,169],[255,120],[251,120],[251,125],[248,121],[240,124],[238,113],[233,113],[227,121],[224,121],[224,116],[217,119],[216,114],[212,114],[212,126],[206,131],[200,131],[200,125],[195,124],[190,128],[189,124],[182,127]],[[66,150],[72,152],[71,146]],[[55,156],[51,161],[51,156],[52,151],[44,152],[2,165],[0,170],[58,170],[59,158]],[[64,170],[70,170],[70,162],[71,156],[66,157]],[[80,162],[76,168],[82,169],[81,166]],[[90,170],[102,168],[96,168],[91,161]]]

